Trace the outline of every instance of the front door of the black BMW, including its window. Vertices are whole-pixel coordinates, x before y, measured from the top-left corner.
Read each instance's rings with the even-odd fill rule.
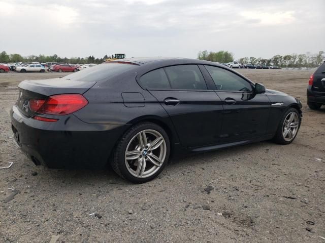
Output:
[[[230,70],[205,66],[223,104],[222,142],[265,136],[271,102],[266,94],[256,94],[254,86]]]

